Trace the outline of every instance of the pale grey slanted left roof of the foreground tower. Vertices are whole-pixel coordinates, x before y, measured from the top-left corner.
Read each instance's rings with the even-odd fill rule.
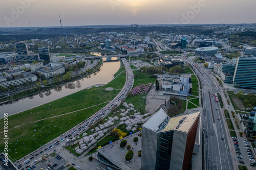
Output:
[[[169,118],[169,116],[161,108],[150,119],[148,119],[147,122],[142,125],[142,127],[157,132],[159,130],[158,127],[164,122],[166,118]]]

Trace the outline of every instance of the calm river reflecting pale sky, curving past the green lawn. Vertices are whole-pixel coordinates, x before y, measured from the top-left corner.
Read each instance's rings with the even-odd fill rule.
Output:
[[[15,114],[54,101],[93,85],[107,84],[114,78],[114,74],[118,71],[119,67],[119,61],[103,62],[103,65],[100,67],[100,71],[97,75],[91,75],[91,78],[83,78],[80,79],[79,82],[75,81],[69,85],[63,85],[59,88],[47,90],[33,96],[13,101],[9,104],[1,105],[0,118],[4,117],[4,113],[8,113],[9,115]]]

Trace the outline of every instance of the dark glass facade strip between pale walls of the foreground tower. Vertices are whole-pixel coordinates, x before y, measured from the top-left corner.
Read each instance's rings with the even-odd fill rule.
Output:
[[[169,169],[174,131],[158,133],[156,170]]]

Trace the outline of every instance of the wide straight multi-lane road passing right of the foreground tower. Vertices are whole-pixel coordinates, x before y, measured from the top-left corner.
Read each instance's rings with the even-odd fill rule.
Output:
[[[234,169],[234,158],[230,154],[232,143],[230,136],[227,134],[223,111],[219,103],[214,101],[215,96],[210,94],[217,93],[219,90],[218,85],[213,81],[212,76],[208,75],[208,72],[204,69],[197,69],[193,61],[184,57],[182,59],[193,65],[196,74],[202,82],[202,128],[205,129],[205,169]]]

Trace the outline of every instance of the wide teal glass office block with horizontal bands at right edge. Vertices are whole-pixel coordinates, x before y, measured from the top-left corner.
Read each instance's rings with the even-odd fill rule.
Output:
[[[237,88],[256,89],[256,57],[238,57],[233,83]]]

